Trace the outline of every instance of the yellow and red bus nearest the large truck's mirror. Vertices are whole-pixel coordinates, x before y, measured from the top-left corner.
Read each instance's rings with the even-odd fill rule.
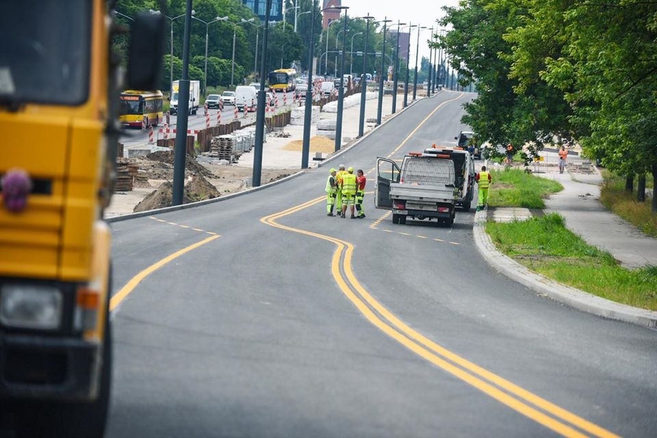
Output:
[[[157,91],[125,90],[121,93],[121,115],[119,120],[124,127],[142,127],[146,118],[146,127],[157,126],[164,116],[164,96]]]

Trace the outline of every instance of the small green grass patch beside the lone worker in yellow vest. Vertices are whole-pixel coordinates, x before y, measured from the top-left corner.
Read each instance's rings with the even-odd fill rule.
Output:
[[[493,185],[489,190],[491,207],[545,208],[543,198],[561,192],[563,186],[552,179],[534,177],[519,169],[493,170]]]

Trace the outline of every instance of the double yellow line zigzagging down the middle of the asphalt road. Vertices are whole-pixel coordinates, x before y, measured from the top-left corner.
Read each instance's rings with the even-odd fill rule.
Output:
[[[415,354],[419,355],[423,359],[426,359],[430,363],[433,363],[437,367],[452,374],[452,376],[455,376],[456,378],[461,379],[461,381],[472,385],[472,387],[479,389],[491,398],[498,400],[502,404],[505,404],[511,409],[521,413],[522,415],[525,415],[531,420],[534,420],[535,422],[542,424],[551,430],[554,430],[554,432],[560,435],[565,437],[587,437],[587,435],[584,435],[579,430],[571,427],[575,426],[597,437],[617,437],[617,435],[602,428],[601,426],[597,426],[597,424],[593,424],[574,413],[558,407],[556,404],[553,404],[552,402],[549,402],[548,400],[545,400],[536,394],[533,394],[530,391],[527,391],[526,389],[511,383],[510,381],[507,381],[497,374],[494,374],[485,368],[481,368],[479,365],[467,361],[467,359],[456,355],[456,353],[447,350],[443,346],[440,346],[427,337],[424,337],[424,335],[421,333],[411,329],[409,326],[407,326],[407,324],[399,320],[396,315],[383,307],[380,302],[374,299],[374,297],[372,297],[356,279],[356,276],[352,272],[351,268],[354,246],[349,242],[339,240],[328,235],[322,235],[319,233],[313,233],[311,231],[287,227],[275,221],[276,219],[282,218],[283,216],[288,216],[289,214],[293,214],[296,211],[305,209],[310,205],[319,203],[322,200],[324,200],[324,196],[315,198],[314,200],[311,200],[305,204],[289,208],[285,211],[281,211],[278,214],[265,216],[260,219],[260,222],[286,231],[292,231],[294,233],[309,235],[311,237],[317,237],[321,240],[333,242],[337,248],[335,253],[333,253],[331,272],[342,293],[347,296],[347,298],[355,305],[355,307],[357,307],[357,309],[361,311],[365,318],[374,324],[374,326],[376,326],[378,329],[389,335],[389,337],[395,339],[397,342],[412,352],[415,352]],[[340,262],[341,259],[342,263]],[[348,279],[348,283],[351,287],[347,284],[347,281],[342,274],[343,271],[344,276],[346,276]],[[354,293],[354,290],[358,295]],[[378,312],[378,314],[383,318],[385,318],[387,322],[385,322],[382,318],[379,318],[378,315],[376,315],[376,313],[370,309],[370,307]],[[482,380],[482,378],[486,379],[488,382]],[[511,393],[517,398],[514,398],[507,393]],[[523,400],[534,404],[535,407],[538,407],[539,409],[554,415],[554,417],[558,417],[559,419],[570,423],[570,425],[559,422],[553,417],[550,417],[538,409],[535,409],[534,407],[524,403]]]

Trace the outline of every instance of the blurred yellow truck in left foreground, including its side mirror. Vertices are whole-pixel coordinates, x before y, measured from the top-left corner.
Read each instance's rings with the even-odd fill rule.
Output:
[[[128,29],[105,0],[0,14],[0,422],[18,437],[102,437],[112,374],[110,201],[120,87],[157,87],[162,16]],[[2,428],[0,424],[0,429]]]

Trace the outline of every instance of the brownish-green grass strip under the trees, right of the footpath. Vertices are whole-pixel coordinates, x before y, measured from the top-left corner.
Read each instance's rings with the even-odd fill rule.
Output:
[[[625,191],[625,179],[604,172],[604,184],[600,188],[600,201],[621,218],[627,220],[643,233],[657,237],[657,214],[652,212],[651,198],[646,196],[645,202],[636,201],[636,181],[634,192]],[[648,175],[647,187],[654,186],[652,177]]]

